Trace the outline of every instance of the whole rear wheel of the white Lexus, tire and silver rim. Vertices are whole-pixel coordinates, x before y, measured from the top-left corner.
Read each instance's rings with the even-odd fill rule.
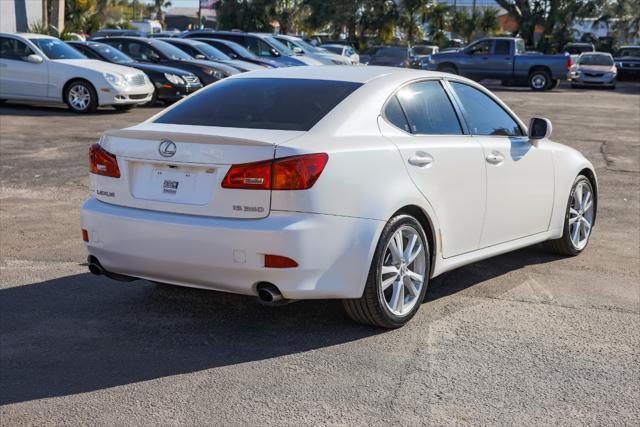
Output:
[[[392,218],[380,236],[362,297],[343,300],[353,320],[399,328],[418,311],[429,281],[429,245],[420,223]]]

